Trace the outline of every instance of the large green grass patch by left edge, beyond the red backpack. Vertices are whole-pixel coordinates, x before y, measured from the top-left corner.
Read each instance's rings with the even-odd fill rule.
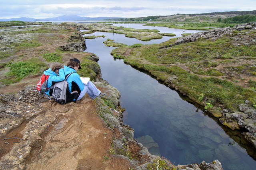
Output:
[[[16,83],[22,80],[27,75],[36,74],[46,69],[46,63],[40,61],[38,58],[33,58],[26,61],[19,61],[6,65],[10,67],[10,71],[6,73],[6,79],[0,79],[3,84]]]

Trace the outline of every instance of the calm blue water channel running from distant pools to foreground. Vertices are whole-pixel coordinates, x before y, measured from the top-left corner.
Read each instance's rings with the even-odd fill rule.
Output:
[[[114,24],[116,26],[143,28],[141,24]],[[194,30],[170,29],[164,27],[144,27],[180,36]],[[167,29],[167,30],[166,30]],[[82,31],[82,30],[81,30]],[[121,93],[121,107],[126,108],[124,123],[135,129],[134,138],[147,146],[150,153],[164,156],[175,165],[212,162],[218,159],[224,170],[253,170],[256,161],[233,138],[240,138],[234,131],[224,131],[216,121],[200,109],[188,103],[182,95],[159,83],[150,75],[126,65],[122,60],[114,60],[110,52],[114,47],[106,47],[107,38],[115,42],[132,45],[152,44],[160,40],[142,42],[126,38],[122,34],[96,32],[88,35],[104,35],[106,38],[86,40],[85,51],[95,53],[102,78]],[[87,35],[86,35],[87,36]],[[148,144],[145,143],[149,142]]]

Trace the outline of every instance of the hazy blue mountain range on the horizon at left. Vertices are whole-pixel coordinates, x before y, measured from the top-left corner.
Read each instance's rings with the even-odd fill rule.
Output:
[[[90,18],[90,17],[82,17],[77,15],[63,15],[58,16],[54,18],[43,18],[43,19],[36,19],[36,18],[27,18],[27,17],[21,17],[21,18],[10,18],[10,19],[0,19],[0,21],[79,21],[79,20],[106,20],[106,19],[114,19],[118,17],[96,17],[96,18]]]

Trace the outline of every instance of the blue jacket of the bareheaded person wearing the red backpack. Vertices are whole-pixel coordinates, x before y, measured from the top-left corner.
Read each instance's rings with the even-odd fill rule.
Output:
[[[57,75],[54,71],[49,68],[48,70],[44,71],[45,75],[49,75],[47,80],[47,87],[51,87],[53,82],[63,81],[65,79],[64,69],[59,69],[59,75]],[[49,94],[50,90],[46,91],[47,95]]]

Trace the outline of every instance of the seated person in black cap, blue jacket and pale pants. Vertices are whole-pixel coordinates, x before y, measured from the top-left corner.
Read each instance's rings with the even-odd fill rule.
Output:
[[[76,61],[68,61],[68,63],[64,65],[65,75],[74,72],[70,74],[66,81],[68,82],[70,93],[73,91],[78,91],[79,97],[76,100],[78,101],[82,99],[85,93],[87,93],[92,99],[106,95],[106,93],[101,93],[101,91],[97,89],[97,87],[91,81],[88,81],[87,84],[82,83],[80,76],[78,73],[76,73],[79,67],[80,64]]]

